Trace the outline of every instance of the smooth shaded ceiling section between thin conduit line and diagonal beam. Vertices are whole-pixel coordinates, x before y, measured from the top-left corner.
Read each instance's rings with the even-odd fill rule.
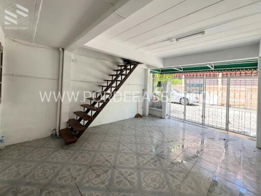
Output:
[[[43,45],[65,47],[111,6],[101,0],[79,0],[77,3],[71,0],[45,0],[34,41]]]

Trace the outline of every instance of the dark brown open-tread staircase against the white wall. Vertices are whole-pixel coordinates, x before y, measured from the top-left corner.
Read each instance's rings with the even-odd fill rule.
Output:
[[[75,143],[81,137],[137,66],[137,62],[129,60],[126,60],[122,65],[118,65],[118,69],[114,70],[115,74],[109,75],[111,80],[104,80],[107,85],[99,85],[101,91],[94,92],[94,96],[88,98],[90,104],[81,105],[83,111],[73,112],[76,119],[69,119],[67,121],[68,128],[60,130],[65,145]]]

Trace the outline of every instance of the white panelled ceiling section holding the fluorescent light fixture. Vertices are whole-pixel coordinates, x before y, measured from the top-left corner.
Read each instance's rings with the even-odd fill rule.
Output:
[[[167,41],[201,30],[205,35]],[[261,37],[261,1],[154,0],[101,36],[163,58],[254,43]]]

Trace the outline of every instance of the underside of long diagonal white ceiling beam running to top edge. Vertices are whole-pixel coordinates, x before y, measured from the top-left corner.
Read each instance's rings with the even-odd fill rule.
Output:
[[[65,47],[65,50],[72,52],[77,48],[82,47],[83,44],[110,29],[115,24],[138,11],[151,1],[152,0],[118,0],[115,5],[97,18],[91,26],[87,27],[81,35],[77,36],[71,43],[69,43]]]

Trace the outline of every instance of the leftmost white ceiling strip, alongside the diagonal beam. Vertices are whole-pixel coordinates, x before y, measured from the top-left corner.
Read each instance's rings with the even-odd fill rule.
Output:
[[[139,0],[140,1],[140,0]],[[145,0],[142,0],[145,1]],[[138,24],[144,22],[145,20],[148,20],[149,18],[158,15],[167,9],[170,9],[177,4],[183,2],[185,0],[164,0],[164,3],[160,0],[158,1],[152,1],[148,5],[144,7],[144,9],[149,10],[148,13],[144,13],[144,9],[138,10],[135,14],[127,17],[124,22],[119,22],[116,24],[113,28],[107,30],[105,33],[103,33],[103,36],[107,38],[113,38],[117,35],[119,35],[122,32],[125,32]]]

